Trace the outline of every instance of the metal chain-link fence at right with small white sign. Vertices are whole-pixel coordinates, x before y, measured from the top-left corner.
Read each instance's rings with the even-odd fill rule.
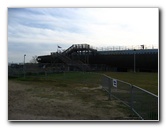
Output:
[[[102,88],[108,97],[121,100],[142,120],[158,120],[158,96],[130,83],[106,75],[102,77]]]

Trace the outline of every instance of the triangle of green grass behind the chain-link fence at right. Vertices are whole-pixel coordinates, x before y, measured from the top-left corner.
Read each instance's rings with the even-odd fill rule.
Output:
[[[158,73],[146,72],[104,72],[104,74],[132,85],[141,87],[158,95]]]

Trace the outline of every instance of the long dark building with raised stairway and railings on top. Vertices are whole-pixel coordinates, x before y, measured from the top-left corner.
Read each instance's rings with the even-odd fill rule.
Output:
[[[38,56],[37,61],[68,70],[158,72],[158,49],[97,51],[88,44],[73,44],[62,53]]]

